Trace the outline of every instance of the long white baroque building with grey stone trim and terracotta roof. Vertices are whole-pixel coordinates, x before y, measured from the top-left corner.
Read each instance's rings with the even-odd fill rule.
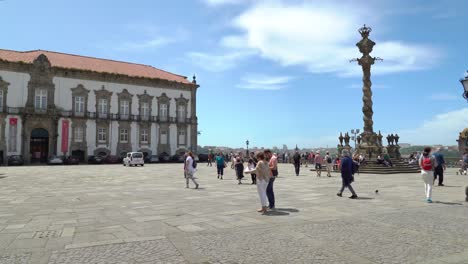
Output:
[[[198,87],[142,64],[0,50],[0,157],[196,150]]]

